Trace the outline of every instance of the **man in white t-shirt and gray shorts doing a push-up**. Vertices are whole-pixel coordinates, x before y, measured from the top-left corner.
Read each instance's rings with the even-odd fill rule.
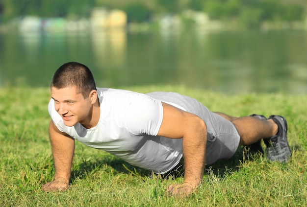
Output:
[[[160,174],[184,158],[184,183],[167,188],[183,196],[201,183],[206,164],[229,159],[240,145],[256,145],[263,138],[269,160],[291,156],[282,116],[237,118],[212,113],[174,92],[96,88],[91,71],[76,62],[54,73],[49,113],[55,175],[44,191],[68,189],[75,139]]]

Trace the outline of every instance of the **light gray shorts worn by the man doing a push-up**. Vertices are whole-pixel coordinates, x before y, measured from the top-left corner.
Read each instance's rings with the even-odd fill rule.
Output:
[[[148,95],[157,100],[174,103],[205,121],[207,126],[206,164],[227,160],[234,155],[239,146],[240,135],[230,121],[209,111],[196,99],[176,92],[152,92]]]

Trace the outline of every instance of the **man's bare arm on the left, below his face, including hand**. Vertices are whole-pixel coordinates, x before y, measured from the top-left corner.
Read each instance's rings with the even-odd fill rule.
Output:
[[[55,167],[54,181],[44,184],[44,191],[64,191],[68,189],[72,161],[75,151],[75,139],[62,133],[54,125],[49,125],[52,155]]]

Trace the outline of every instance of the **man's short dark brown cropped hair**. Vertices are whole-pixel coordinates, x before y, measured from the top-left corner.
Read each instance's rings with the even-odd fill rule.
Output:
[[[69,62],[58,68],[52,76],[51,87],[63,89],[77,87],[77,93],[87,98],[92,90],[96,90],[96,84],[91,70],[77,62]]]

